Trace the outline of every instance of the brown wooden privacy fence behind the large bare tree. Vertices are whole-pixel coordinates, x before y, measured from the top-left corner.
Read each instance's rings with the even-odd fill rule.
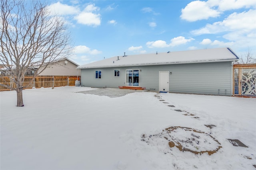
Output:
[[[5,79],[7,83],[4,82]],[[41,88],[41,87],[58,87],[58,86],[74,86],[76,80],[80,80],[80,76],[36,76],[28,88]],[[28,82],[33,79],[32,76],[25,76],[23,86],[27,86]],[[16,88],[16,84],[9,77],[0,78],[1,84],[7,84],[13,88]],[[0,86],[0,91],[10,90],[3,86]]]

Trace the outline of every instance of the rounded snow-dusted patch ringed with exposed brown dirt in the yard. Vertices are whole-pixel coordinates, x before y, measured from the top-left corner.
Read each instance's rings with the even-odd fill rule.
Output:
[[[194,154],[208,153],[208,155],[212,155],[222,148],[212,135],[189,127],[168,127],[156,135],[143,134],[142,138],[142,141],[148,145],[158,146],[160,143],[167,143],[170,150],[175,146],[182,152],[187,151]],[[168,151],[163,150],[163,152]]]

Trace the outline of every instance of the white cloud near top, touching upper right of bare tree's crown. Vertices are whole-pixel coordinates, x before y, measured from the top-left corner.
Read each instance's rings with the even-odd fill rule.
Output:
[[[51,4],[47,8],[50,10],[51,15],[65,16],[65,15],[74,15],[79,13],[79,9],[77,9],[76,7],[68,6],[60,2]]]

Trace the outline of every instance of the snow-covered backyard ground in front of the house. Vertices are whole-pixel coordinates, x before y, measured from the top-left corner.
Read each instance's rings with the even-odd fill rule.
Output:
[[[24,107],[15,106],[16,92],[0,92],[1,169],[255,170],[256,98],[76,93],[86,90],[92,88],[27,89]],[[168,127],[195,131],[163,131]],[[192,150],[214,150],[219,144],[209,135],[221,146],[211,155],[169,146],[177,139]]]

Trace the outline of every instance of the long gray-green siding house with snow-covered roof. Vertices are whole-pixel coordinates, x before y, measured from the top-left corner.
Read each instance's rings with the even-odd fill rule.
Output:
[[[78,66],[81,86],[232,96],[230,48],[124,55]]]

